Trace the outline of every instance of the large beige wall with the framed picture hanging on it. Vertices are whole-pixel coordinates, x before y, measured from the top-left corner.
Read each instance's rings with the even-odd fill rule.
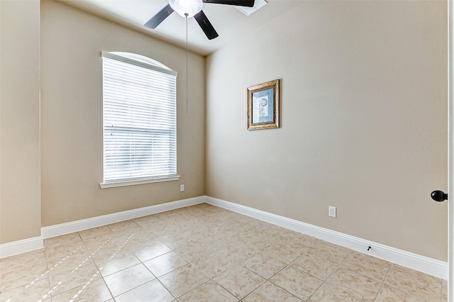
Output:
[[[294,4],[206,60],[206,194],[446,261],[446,1]],[[277,78],[282,128],[246,130]]]

